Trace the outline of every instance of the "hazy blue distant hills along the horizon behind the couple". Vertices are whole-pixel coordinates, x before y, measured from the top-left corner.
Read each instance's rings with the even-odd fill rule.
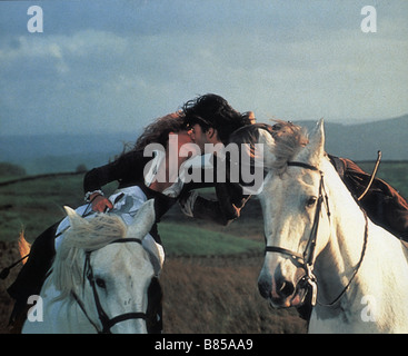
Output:
[[[300,121],[311,128],[312,121]],[[341,125],[326,122],[326,151],[354,160],[408,159],[408,115],[375,122]],[[29,175],[73,171],[107,164],[135,142],[139,134],[0,136],[0,162],[23,167]]]

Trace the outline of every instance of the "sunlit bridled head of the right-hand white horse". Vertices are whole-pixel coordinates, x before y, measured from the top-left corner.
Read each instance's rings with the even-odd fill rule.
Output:
[[[324,122],[301,140],[276,141],[275,162],[263,181],[267,254],[258,279],[259,291],[273,307],[300,306],[311,284],[316,256],[326,246],[329,224],[322,198],[320,164],[325,156]],[[317,238],[318,237],[318,238]]]

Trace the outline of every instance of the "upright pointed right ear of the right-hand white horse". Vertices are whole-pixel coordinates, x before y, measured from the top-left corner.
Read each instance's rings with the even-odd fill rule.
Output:
[[[309,144],[299,152],[297,160],[319,166],[325,155],[325,121],[320,119],[309,136]]]

